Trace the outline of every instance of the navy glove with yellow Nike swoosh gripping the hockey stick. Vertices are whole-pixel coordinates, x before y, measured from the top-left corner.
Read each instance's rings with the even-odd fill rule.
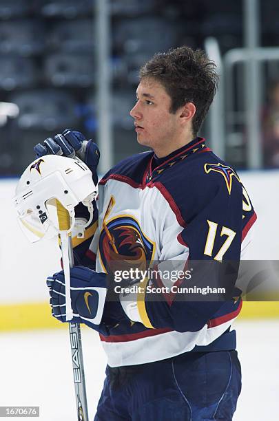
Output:
[[[107,334],[105,325],[101,323],[105,296],[107,294],[106,275],[97,273],[85,266],[70,269],[71,303],[74,318],[71,323],[85,323],[92,329]],[[48,277],[52,316],[65,322],[65,277],[64,271]]]

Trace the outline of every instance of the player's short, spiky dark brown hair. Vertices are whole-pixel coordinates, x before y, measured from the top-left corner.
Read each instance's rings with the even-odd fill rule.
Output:
[[[215,68],[214,61],[209,60],[205,52],[183,46],[155,54],[141,67],[140,78],[154,78],[165,87],[172,98],[171,113],[187,102],[194,103],[196,114],[192,129],[196,136],[218,87]]]

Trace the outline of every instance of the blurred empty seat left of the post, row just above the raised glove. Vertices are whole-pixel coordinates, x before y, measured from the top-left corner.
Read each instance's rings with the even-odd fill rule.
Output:
[[[22,130],[61,130],[76,127],[74,98],[66,92],[52,89],[25,91],[10,96],[10,102],[19,106],[19,116],[14,120]]]

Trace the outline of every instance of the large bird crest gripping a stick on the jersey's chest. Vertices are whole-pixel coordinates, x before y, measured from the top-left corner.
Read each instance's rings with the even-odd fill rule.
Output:
[[[111,197],[103,219],[99,241],[101,263],[107,273],[138,268],[146,270],[154,255],[155,244],[143,234],[136,219],[119,215],[107,221],[115,204]]]

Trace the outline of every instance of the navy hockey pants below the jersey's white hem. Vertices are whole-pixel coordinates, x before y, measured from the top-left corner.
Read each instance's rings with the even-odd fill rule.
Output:
[[[241,390],[236,351],[188,352],[106,374],[94,421],[229,421]]]

